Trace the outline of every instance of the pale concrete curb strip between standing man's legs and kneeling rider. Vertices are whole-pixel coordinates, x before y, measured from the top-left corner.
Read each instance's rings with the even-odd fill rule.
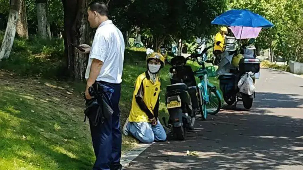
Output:
[[[145,149],[147,149],[149,146],[151,146],[153,143],[141,143],[138,147],[134,148],[131,151],[126,152],[125,154],[121,155],[120,163],[122,164],[122,170],[129,165],[132,160],[137,158]]]

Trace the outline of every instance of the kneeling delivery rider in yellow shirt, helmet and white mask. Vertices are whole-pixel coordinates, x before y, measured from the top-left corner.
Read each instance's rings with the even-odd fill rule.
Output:
[[[164,67],[164,57],[157,52],[146,56],[147,71],[135,81],[132,109],[123,133],[131,134],[142,143],[165,141],[166,133],[158,120],[160,78],[158,73]]]

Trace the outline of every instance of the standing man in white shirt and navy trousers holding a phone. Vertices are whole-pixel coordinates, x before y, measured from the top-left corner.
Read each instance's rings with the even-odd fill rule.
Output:
[[[95,82],[114,89],[109,101],[112,103],[113,114],[104,122],[94,126],[90,121],[92,143],[96,161],[93,170],[120,170],[122,136],[120,131],[119,100],[122,82],[124,39],[121,31],[108,19],[108,8],[104,2],[93,1],[88,5],[88,22],[97,28],[92,47],[79,45],[84,53],[89,53],[85,73],[87,80],[85,97],[91,99],[88,88]]]

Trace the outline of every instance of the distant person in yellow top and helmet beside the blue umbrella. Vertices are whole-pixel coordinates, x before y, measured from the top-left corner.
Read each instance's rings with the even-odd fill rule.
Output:
[[[215,65],[219,65],[220,60],[221,60],[221,54],[223,53],[225,49],[225,34],[227,34],[227,28],[226,27],[221,27],[220,31],[216,34],[215,36],[215,46],[214,46],[214,51],[213,54],[216,57],[215,60]]]

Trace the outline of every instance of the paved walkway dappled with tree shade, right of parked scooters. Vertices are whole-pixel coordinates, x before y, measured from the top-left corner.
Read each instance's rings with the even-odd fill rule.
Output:
[[[126,169],[303,169],[303,79],[261,70],[251,110],[198,120],[185,141],[156,143]],[[185,156],[186,151],[199,156]]]

